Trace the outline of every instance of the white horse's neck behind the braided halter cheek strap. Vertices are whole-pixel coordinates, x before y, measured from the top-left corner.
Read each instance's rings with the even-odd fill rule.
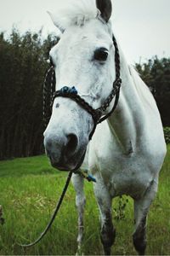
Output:
[[[120,51],[122,87],[116,111],[108,119],[111,133],[124,154],[131,154],[136,148],[137,138],[142,132],[143,109],[135,90],[133,77],[127,61]]]

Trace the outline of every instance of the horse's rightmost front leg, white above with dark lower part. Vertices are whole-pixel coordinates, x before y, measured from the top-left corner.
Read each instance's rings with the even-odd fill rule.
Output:
[[[157,180],[150,183],[144,196],[134,200],[134,224],[133,245],[139,255],[144,255],[146,249],[146,220],[151,202],[154,200],[157,191]]]

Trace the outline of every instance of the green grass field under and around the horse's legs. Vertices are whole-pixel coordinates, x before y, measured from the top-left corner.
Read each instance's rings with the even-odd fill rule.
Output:
[[[72,255],[77,251],[77,211],[75,192],[70,185],[65,201],[48,235],[35,247],[23,249],[18,243],[28,243],[40,235],[54,211],[67,173],[57,172],[45,156],[0,162],[0,205],[5,224],[0,225],[0,254]],[[86,182],[84,254],[101,254],[99,212],[94,199],[93,184]],[[125,200],[127,197],[125,198]],[[118,209],[113,201],[113,209]],[[119,214],[118,210],[115,212]],[[133,201],[128,198],[124,218],[113,217],[116,242],[113,254],[136,254],[133,249]],[[116,216],[116,214],[114,214]],[[147,254],[170,254],[170,147],[161,170],[159,192],[150,207]]]

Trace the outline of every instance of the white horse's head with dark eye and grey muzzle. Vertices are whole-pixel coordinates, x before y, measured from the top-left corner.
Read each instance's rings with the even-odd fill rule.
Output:
[[[83,9],[73,6],[58,15],[50,14],[61,31],[59,43],[49,53],[55,90],[74,86],[82,99],[98,109],[116,79],[111,0],[84,1]],[[94,125],[93,116],[86,109],[71,98],[57,96],[44,131],[44,146],[52,166],[66,171],[81,166]]]

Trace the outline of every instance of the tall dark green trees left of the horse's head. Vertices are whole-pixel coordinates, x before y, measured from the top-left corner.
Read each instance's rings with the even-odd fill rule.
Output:
[[[0,34],[0,159],[42,153],[42,83],[53,38]]]

